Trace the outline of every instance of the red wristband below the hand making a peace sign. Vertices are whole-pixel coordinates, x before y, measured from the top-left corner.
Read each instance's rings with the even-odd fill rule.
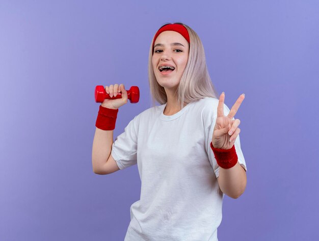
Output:
[[[233,145],[230,149],[218,149],[212,146],[212,142],[210,142],[210,147],[214,152],[218,166],[229,169],[236,165],[238,157],[235,145]]]

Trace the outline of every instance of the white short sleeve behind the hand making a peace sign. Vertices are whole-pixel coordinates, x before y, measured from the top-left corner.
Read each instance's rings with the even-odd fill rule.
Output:
[[[228,115],[229,113],[229,108],[228,106],[224,103],[224,114]],[[212,138],[212,132],[214,131],[214,127],[216,124],[216,119],[217,119],[217,106],[216,106],[216,111],[213,113],[211,112],[212,115],[206,115],[206,120],[204,119],[203,121],[207,121],[205,126],[205,148],[207,151],[207,155],[209,158],[209,162],[211,167],[214,169],[216,178],[219,176],[219,165],[217,164],[214,152],[211,150],[210,147],[210,142],[211,142],[211,138]],[[211,117],[212,116],[212,117]],[[233,118],[234,120],[234,118]],[[245,171],[247,172],[247,167],[246,167],[246,162],[245,162],[245,158],[241,149],[241,141],[240,141],[240,135],[237,136],[235,143],[235,150],[237,153],[237,157],[238,157],[238,163],[240,163],[240,165],[245,169]]]

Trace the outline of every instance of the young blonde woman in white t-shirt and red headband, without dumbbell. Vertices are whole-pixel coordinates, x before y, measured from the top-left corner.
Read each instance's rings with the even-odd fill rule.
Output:
[[[216,241],[224,195],[241,196],[246,163],[240,145],[240,120],[217,98],[198,35],[182,23],[166,24],[149,51],[153,106],[135,116],[113,143],[118,108],[127,103],[124,85],[105,91],[99,107],[92,163],[97,174],[137,164],[141,197],[130,207],[125,241]],[[161,105],[154,105],[154,99]]]

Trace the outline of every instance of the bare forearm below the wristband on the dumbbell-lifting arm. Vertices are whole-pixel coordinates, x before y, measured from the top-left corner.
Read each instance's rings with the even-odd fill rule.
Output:
[[[113,145],[113,130],[102,130],[96,127],[92,147],[93,172],[107,163]]]

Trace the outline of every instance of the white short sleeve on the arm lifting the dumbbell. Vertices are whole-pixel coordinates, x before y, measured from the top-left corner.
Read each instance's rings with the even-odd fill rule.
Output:
[[[139,116],[134,117],[112,145],[111,154],[121,170],[137,164],[138,121]]]

